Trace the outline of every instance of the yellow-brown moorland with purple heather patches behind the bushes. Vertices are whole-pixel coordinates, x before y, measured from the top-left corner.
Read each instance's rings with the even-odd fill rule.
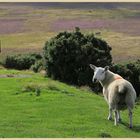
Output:
[[[140,57],[139,3],[1,3],[0,59],[8,54],[41,51],[46,40],[60,31],[101,32],[112,46],[114,62]],[[119,56],[119,57],[118,57]]]

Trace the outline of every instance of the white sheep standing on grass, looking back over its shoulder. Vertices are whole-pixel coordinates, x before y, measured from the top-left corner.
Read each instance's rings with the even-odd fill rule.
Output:
[[[132,84],[111,72],[108,66],[102,68],[90,64],[90,67],[94,70],[92,81],[99,81],[103,87],[103,95],[109,105],[108,120],[112,119],[112,111],[114,111],[114,124],[117,125],[121,121],[120,110],[128,109],[129,127],[132,128],[132,109],[136,100],[136,92]]]

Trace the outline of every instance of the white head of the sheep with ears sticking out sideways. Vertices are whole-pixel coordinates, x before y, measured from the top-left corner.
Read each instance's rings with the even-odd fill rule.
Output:
[[[103,81],[105,79],[105,74],[106,74],[107,70],[109,69],[109,66],[102,68],[102,67],[96,67],[96,66],[90,64],[90,68],[94,70],[94,75],[93,75],[92,81],[99,82],[99,81]]]

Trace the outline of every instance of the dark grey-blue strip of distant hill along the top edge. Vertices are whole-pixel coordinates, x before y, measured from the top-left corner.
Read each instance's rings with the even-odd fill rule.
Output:
[[[66,9],[118,9],[118,8],[128,8],[128,9],[140,9],[140,3],[116,3],[116,2],[109,2],[109,3],[99,3],[99,2],[36,2],[36,3],[14,3],[16,5],[21,6],[33,6],[36,8],[66,8]]]

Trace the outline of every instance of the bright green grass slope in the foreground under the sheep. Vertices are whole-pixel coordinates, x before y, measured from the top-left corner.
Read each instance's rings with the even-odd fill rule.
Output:
[[[140,137],[140,106],[114,126],[102,96],[28,71],[0,69],[0,114],[0,137]]]

